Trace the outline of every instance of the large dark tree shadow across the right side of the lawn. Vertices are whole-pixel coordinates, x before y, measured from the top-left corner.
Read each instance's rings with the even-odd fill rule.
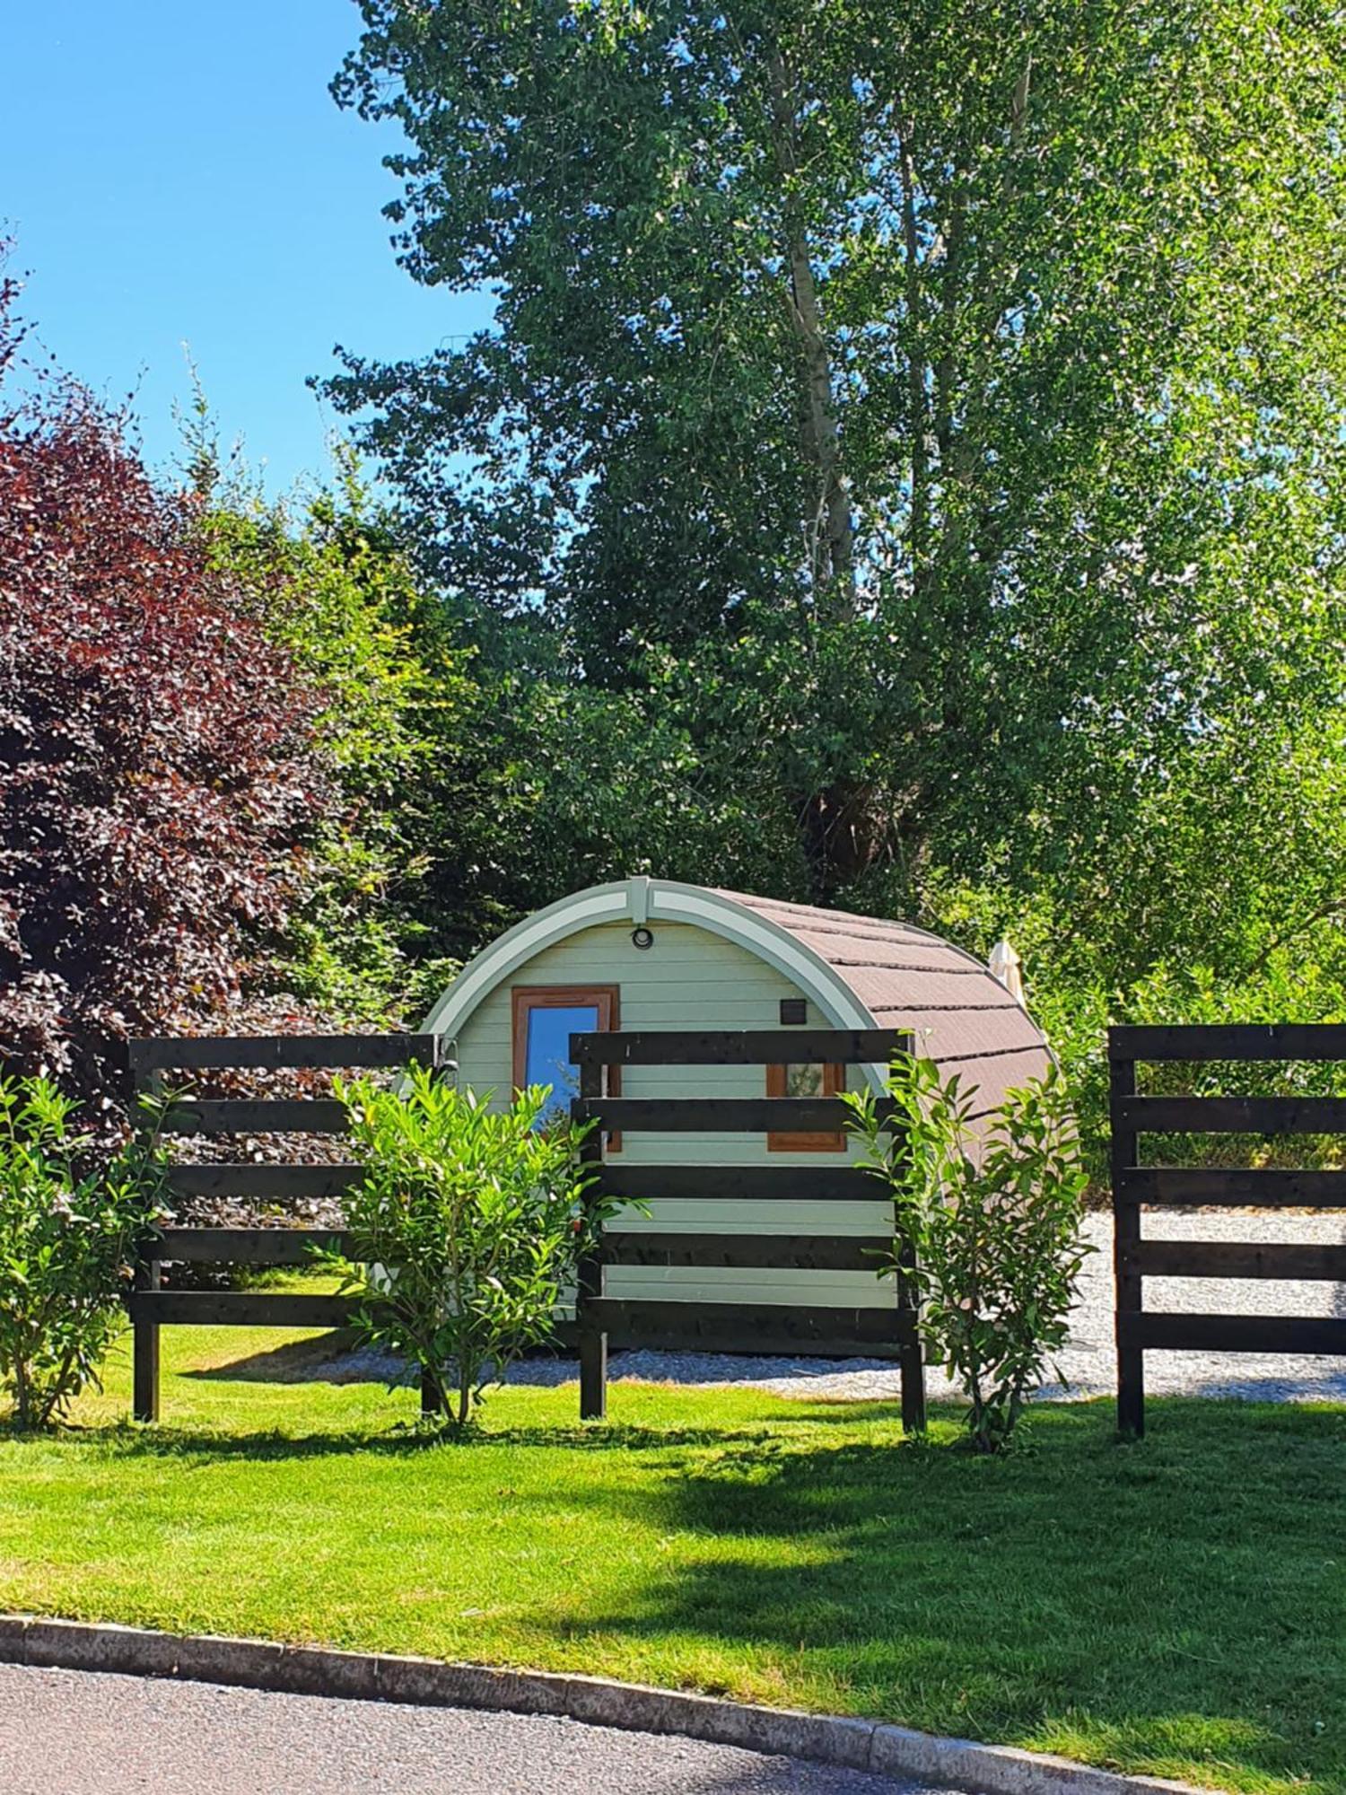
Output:
[[[831,1436],[827,1436],[831,1438]],[[1036,1411],[1025,1450],[723,1441],[641,1504],[691,1537],[558,1637],[714,1641],[790,1698],[1220,1786],[1346,1786],[1346,1416],[1154,1402]],[[1344,1554],[1346,1556],[1346,1554]]]

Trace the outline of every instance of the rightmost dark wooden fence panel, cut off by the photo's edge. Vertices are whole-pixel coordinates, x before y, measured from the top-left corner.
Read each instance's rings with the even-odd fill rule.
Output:
[[[1346,1170],[1141,1165],[1143,1134],[1346,1134],[1346,1097],[1156,1097],[1147,1061],[1346,1061],[1346,1025],[1188,1025],[1107,1030],[1116,1273],[1116,1418],[1145,1431],[1147,1352],[1346,1353],[1332,1316],[1170,1314],[1145,1309],[1145,1278],[1346,1282],[1346,1246],[1147,1240],[1147,1208],[1346,1210]]]

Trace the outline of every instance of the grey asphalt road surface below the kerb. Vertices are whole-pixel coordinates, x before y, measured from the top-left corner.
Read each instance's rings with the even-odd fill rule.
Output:
[[[4,1795],[924,1795],[572,1720],[0,1664]],[[948,1795],[948,1791],[946,1791]]]

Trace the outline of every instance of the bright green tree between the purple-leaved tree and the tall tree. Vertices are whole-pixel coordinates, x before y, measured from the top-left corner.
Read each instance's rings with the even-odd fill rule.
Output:
[[[223,467],[199,395],[187,447],[210,564],[318,695],[330,775],[303,899],[258,978],[339,1021],[416,1018],[515,915],[499,862],[522,831],[477,650],[427,594],[348,449],[332,486],[267,503]]]

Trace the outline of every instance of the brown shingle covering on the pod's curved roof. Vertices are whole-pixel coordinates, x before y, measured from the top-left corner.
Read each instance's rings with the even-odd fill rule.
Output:
[[[976,1111],[1048,1068],[1043,1032],[980,960],[912,923],[720,892],[788,930],[833,966],[878,1029],[910,1029],[917,1050],[978,1086]]]

